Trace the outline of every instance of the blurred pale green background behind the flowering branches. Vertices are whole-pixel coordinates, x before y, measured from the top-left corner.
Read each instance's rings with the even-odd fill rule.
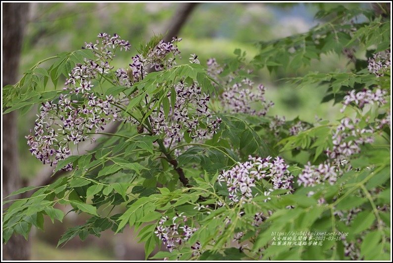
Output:
[[[250,61],[257,54],[256,42],[269,41],[308,31],[320,22],[314,19],[319,8],[330,9],[339,3],[201,3],[196,7],[179,37],[183,61],[196,53],[201,63],[210,57],[223,63],[234,57],[235,48],[246,51]],[[32,3],[25,33],[20,73],[37,61],[62,51],[79,49],[84,42],[94,42],[99,32],[117,33],[139,46],[153,34],[165,33],[178,3]],[[370,3],[346,3],[346,7]],[[115,67],[126,67],[136,53],[118,53]],[[181,63],[178,62],[178,63]],[[45,67],[45,65],[44,65]],[[266,69],[255,72],[259,82],[267,88],[267,99],[275,102],[269,115],[285,116],[287,120],[299,117],[314,122],[315,116],[336,120],[340,105],[333,102],[320,104],[326,87],[296,88],[283,78],[305,75],[309,71],[331,72],[346,70],[348,60],[337,54],[327,54],[321,61],[299,67],[294,72],[270,74]],[[33,128],[38,110],[33,108],[19,116],[19,154],[21,175],[32,178],[42,168],[30,155],[25,135]],[[136,244],[130,230],[113,236],[108,232],[101,238],[90,236],[85,242],[78,238],[63,248],[55,249],[60,235],[67,226],[83,223],[84,219],[69,214],[66,223],[53,225],[46,221],[46,232],[33,232],[33,260],[139,260],[144,258],[143,245]]]

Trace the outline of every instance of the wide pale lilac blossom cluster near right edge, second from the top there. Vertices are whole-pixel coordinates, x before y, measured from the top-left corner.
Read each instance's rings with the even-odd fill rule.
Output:
[[[344,106],[341,112],[344,112],[345,107],[351,103],[354,103],[360,109],[362,109],[364,105],[371,103],[376,103],[378,106],[381,106],[386,103],[386,94],[386,90],[380,88],[375,92],[372,92],[370,89],[363,89],[362,91],[356,92],[356,90],[353,89],[344,97]]]

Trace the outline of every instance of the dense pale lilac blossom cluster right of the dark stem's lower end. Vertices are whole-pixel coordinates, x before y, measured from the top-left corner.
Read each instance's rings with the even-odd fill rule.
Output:
[[[226,183],[231,202],[247,202],[253,197],[252,188],[256,186],[256,181],[261,179],[270,181],[273,189],[287,189],[290,192],[294,176],[289,173],[288,167],[281,157],[249,156],[248,161],[222,172],[217,180],[220,184]]]

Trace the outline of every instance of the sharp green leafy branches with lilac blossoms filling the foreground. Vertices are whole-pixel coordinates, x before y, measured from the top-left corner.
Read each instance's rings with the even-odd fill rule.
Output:
[[[210,59],[204,67],[195,54],[176,65],[181,39],[157,36],[127,69],[114,70],[115,52],[130,47],[105,33],[97,44],[38,62],[3,87],[3,112],[42,103],[28,136],[31,151],[54,173],[71,172],[28,198],[4,201],[12,204],[3,214],[3,242],[12,234],[27,239],[32,226],[43,228],[44,216],[62,221],[56,207],[69,205],[91,218],[68,229],[58,246],[128,225],[151,259],[389,260],[390,22],[343,6],[317,18],[328,15],[334,20],[307,33],[260,43],[251,63],[236,49],[223,66]],[[362,22],[348,22],[358,17]],[[327,84],[323,102],[343,103],[343,118],[268,116],[272,103],[263,85],[254,88],[250,68],[294,69],[330,52],[344,52],[353,69],[290,82]],[[49,69],[41,68],[48,60]],[[64,77],[65,88],[45,90],[49,79],[56,87]],[[105,132],[112,122],[122,125]],[[108,137],[71,155],[94,133]],[[300,152],[307,164],[294,161]],[[115,214],[115,207],[125,212]],[[273,232],[300,231],[346,234],[318,246],[272,239]],[[150,257],[162,243],[170,252]]]

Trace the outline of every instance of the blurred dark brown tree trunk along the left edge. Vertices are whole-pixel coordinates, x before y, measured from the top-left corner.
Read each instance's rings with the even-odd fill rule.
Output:
[[[29,4],[3,3],[2,7],[2,87],[4,87],[17,81],[23,30],[27,21]],[[16,112],[3,115],[2,125],[2,190],[3,197],[5,197],[22,187],[18,168]],[[21,235],[12,236],[7,244],[2,246],[2,249],[2,260],[29,260],[30,258],[30,244]]]

